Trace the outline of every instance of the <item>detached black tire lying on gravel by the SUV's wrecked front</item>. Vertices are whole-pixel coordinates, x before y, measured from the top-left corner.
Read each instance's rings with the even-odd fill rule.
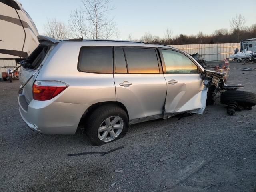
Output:
[[[220,95],[220,102],[228,104],[230,101],[236,101],[242,106],[256,105],[256,94],[247,91],[228,90]]]

